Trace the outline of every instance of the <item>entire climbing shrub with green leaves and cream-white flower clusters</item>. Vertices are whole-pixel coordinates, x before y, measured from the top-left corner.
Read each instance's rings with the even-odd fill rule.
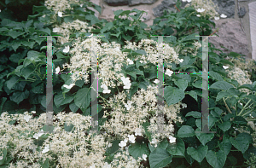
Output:
[[[11,2],[1,3],[0,14],[1,167],[255,167],[256,62],[209,43],[209,130],[216,133],[197,132],[201,73],[176,73],[202,72],[202,39],[195,35],[218,35],[211,1],[188,1],[184,9],[178,1],[176,12],[165,11],[149,27],[137,9],[117,10],[108,22],[87,1],[33,7],[19,1],[32,9],[23,15],[14,14],[20,3]],[[45,125],[47,44],[39,36],[54,35],[60,35],[53,38],[55,114],[54,124]],[[159,43],[151,35],[170,37]],[[89,132],[93,49],[101,133]],[[157,110],[160,53],[163,116]]]

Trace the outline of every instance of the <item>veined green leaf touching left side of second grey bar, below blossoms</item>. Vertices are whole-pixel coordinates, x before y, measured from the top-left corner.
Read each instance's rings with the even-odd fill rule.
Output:
[[[82,88],[79,89],[77,94],[74,97],[75,105],[79,108],[86,109],[90,106],[90,89]]]

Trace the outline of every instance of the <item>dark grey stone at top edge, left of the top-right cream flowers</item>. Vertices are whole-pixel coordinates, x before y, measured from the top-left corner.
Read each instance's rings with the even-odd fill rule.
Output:
[[[177,0],[164,0],[162,1],[162,3],[160,3],[160,5],[158,5],[157,7],[155,7],[153,9],[154,11],[154,16],[155,17],[160,17],[164,14],[164,10],[166,9],[166,11],[171,10],[173,12],[175,12],[175,7],[174,5],[177,3]]]

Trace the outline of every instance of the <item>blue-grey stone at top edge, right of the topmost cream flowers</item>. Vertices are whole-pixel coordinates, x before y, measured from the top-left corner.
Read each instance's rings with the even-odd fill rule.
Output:
[[[227,18],[234,18],[235,15],[235,0],[212,0],[212,3],[218,5],[216,11],[218,14],[225,14]]]

